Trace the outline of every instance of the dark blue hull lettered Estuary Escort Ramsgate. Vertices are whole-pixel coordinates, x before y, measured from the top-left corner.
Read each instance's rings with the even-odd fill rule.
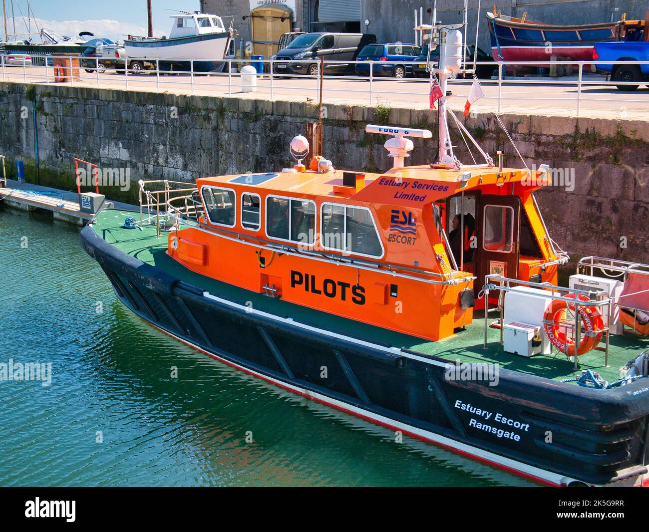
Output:
[[[81,240],[134,313],[285,389],[548,485],[638,485],[646,477],[643,380],[607,391],[506,369],[497,386],[448,380],[441,358],[211,295],[125,254],[91,226]]]

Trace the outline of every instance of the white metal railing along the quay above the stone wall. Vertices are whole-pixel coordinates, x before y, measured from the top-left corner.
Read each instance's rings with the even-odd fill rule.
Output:
[[[23,55],[22,64],[7,64],[6,58],[10,55],[21,56]],[[55,81],[54,71],[55,67],[46,66],[32,66],[25,60],[25,54],[3,54],[0,55],[0,63],[2,67],[3,81],[23,81],[23,82],[44,82],[51,83]],[[60,57],[60,56],[59,56]],[[328,83],[324,87],[327,94],[336,95],[339,93],[361,95],[367,98],[369,104],[374,104],[378,101],[379,97],[421,97],[422,103],[428,101],[428,94],[430,92],[430,78],[421,79],[422,90],[413,88],[413,78],[405,77],[403,79],[395,79],[391,77],[380,77],[378,75],[379,67],[388,65],[403,65],[404,62],[393,61],[324,61],[319,60],[241,60],[241,59],[224,59],[214,62],[215,64],[223,65],[221,72],[202,72],[197,69],[197,65],[205,63],[202,60],[186,60],[184,64],[188,65],[183,70],[174,69],[169,66],[172,62],[169,60],[154,60],[147,58],[84,58],[80,56],[71,56],[66,59],[80,60],[80,77],[78,80],[72,80],[71,84],[81,84],[83,86],[96,86],[101,88],[115,88],[123,86],[124,88],[136,88],[137,86],[144,86],[148,84],[149,87],[155,87],[160,91],[161,88],[169,90],[169,86],[173,86],[178,90],[189,91],[190,94],[195,94],[197,91],[216,91],[221,93],[228,93],[231,95],[233,91],[240,91],[243,89],[244,83],[241,74],[236,70],[239,67],[247,64],[262,64],[264,73],[257,75],[257,91],[269,93],[270,99],[275,99],[276,95],[282,91],[288,94],[295,95],[295,93],[304,93],[313,99],[320,97],[320,77],[317,73],[300,73],[300,71],[284,73],[283,69],[278,66],[281,64],[301,65],[304,71],[308,71],[309,67],[319,67],[324,65],[324,80]],[[128,64],[126,62],[128,61]],[[109,64],[106,67],[106,72],[117,71],[117,75],[104,77],[99,73],[99,64]],[[415,63],[405,63],[406,68]],[[597,95],[588,96],[584,95],[584,88],[593,86],[601,86],[604,88],[615,88],[617,86],[639,86],[648,84],[649,79],[641,79],[639,81],[611,81],[607,79],[589,79],[585,75],[585,67],[591,65],[634,65],[634,66],[647,66],[649,71],[649,61],[556,61],[546,62],[478,62],[477,66],[493,66],[495,74],[490,79],[481,79],[484,88],[495,88],[495,93],[487,93],[487,98],[491,103],[495,101],[495,110],[500,112],[504,103],[525,103],[525,102],[539,102],[539,101],[569,101],[573,105],[570,107],[575,110],[579,115],[584,103],[596,103],[598,106],[601,103],[616,103],[616,104],[631,104],[631,103],[649,103],[649,93],[641,94],[641,97],[631,98],[630,93],[626,91],[616,91],[613,95]],[[336,65],[363,65],[369,66],[367,75],[332,75],[327,73],[327,69],[331,69]],[[472,62],[467,62],[467,66],[471,66]],[[549,68],[549,66],[572,66],[576,67],[576,75],[570,77],[556,77],[554,79],[537,79],[535,77],[510,77],[506,75],[509,67],[541,67]],[[18,70],[15,70],[16,67]],[[64,73],[67,73],[67,67],[64,68]],[[93,71],[92,73],[86,72],[87,70]],[[173,75],[173,77],[171,76]],[[69,77],[69,76],[66,76]],[[288,79],[297,79],[297,82],[286,84]],[[301,80],[301,82],[300,82]],[[347,81],[344,84],[332,83],[333,80]],[[369,82],[367,84],[358,84],[352,81],[364,80]],[[392,80],[395,84],[382,83],[385,80]],[[416,78],[415,78],[416,80]],[[306,83],[304,83],[306,81]],[[471,75],[462,78],[449,80],[449,86],[462,86],[472,83]],[[574,88],[574,95],[548,95],[545,91],[547,86],[559,85]],[[526,87],[524,91],[508,91],[507,88],[513,86]],[[528,86],[528,87],[527,87]],[[534,91],[533,88],[537,88]],[[646,97],[644,97],[646,96]],[[395,98],[398,100],[398,98]],[[535,106],[538,106],[535,105]],[[649,112],[649,110],[648,110]]]

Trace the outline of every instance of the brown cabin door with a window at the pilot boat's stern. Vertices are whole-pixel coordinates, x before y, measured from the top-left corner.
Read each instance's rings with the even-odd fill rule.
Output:
[[[482,289],[485,275],[519,275],[520,199],[516,196],[482,195],[479,202],[476,288]]]

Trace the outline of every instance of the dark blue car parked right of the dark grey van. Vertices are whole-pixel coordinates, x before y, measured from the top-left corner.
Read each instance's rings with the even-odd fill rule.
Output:
[[[369,61],[373,61],[373,76],[404,78],[412,73],[412,64],[421,48],[408,43],[368,44],[358,54],[356,74],[369,76]]]

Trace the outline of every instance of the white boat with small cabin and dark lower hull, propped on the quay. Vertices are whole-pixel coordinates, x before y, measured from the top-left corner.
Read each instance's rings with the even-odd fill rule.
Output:
[[[205,13],[178,12],[171,15],[169,38],[129,36],[124,41],[133,59],[161,60],[162,69],[171,66],[190,71],[220,71],[236,30],[226,28],[223,19]],[[193,64],[190,65],[191,60]]]

